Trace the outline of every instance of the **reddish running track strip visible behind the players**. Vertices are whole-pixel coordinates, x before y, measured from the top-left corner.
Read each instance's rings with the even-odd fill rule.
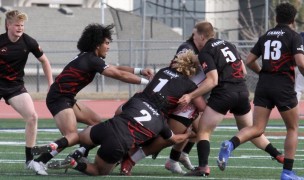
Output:
[[[124,100],[79,100],[79,101],[84,103],[88,107],[92,108],[93,111],[95,111],[102,118],[105,119],[111,118],[114,115],[114,112],[117,109],[117,107],[119,107],[119,105],[125,102]],[[40,119],[52,118],[52,115],[50,114],[49,110],[45,105],[45,101],[42,100],[34,101],[34,105]],[[300,102],[300,112],[304,113],[303,101]],[[226,118],[231,118],[231,117],[233,116],[229,113],[226,115]],[[6,119],[21,118],[21,116],[18,113],[16,113],[11,106],[8,106],[2,100],[0,101],[0,119],[1,118],[6,118]],[[274,109],[272,111],[271,118],[272,119],[281,118],[277,109]],[[301,118],[303,118],[303,116],[301,116]]]

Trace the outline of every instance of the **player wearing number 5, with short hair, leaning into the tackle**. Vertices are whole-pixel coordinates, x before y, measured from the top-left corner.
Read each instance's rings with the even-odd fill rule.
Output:
[[[206,73],[206,79],[198,89],[184,95],[179,101],[181,104],[188,104],[192,98],[211,91],[207,107],[199,120],[197,133],[199,167],[188,172],[186,174],[188,176],[208,176],[210,174],[208,167],[209,139],[228,111],[234,114],[239,129],[252,125],[249,91],[244,78],[245,65],[236,47],[225,40],[215,39],[213,26],[209,22],[204,22],[204,33],[201,38],[204,41],[204,47],[198,58]],[[264,135],[252,142],[273,157],[280,154]],[[268,151],[266,146],[271,147],[271,151]]]

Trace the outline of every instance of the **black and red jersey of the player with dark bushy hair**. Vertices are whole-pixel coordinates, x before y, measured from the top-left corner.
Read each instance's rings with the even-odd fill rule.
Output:
[[[90,82],[96,73],[102,73],[109,66],[94,52],[83,52],[68,63],[56,77],[49,93],[75,97]]]

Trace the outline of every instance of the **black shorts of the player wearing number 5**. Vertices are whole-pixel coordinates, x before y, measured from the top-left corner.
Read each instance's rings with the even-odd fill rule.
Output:
[[[251,109],[248,91],[212,91],[207,105],[223,115],[230,111],[234,115],[241,116]]]

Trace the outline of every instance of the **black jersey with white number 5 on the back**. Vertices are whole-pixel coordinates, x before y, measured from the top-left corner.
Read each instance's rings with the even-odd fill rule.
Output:
[[[206,74],[211,70],[217,70],[219,77],[218,86],[215,88],[222,87],[225,83],[245,85],[242,60],[232,43],[211,38],[199,53],[198,58]],[[231,91],[238,89],[238,86],[230,88]]]

